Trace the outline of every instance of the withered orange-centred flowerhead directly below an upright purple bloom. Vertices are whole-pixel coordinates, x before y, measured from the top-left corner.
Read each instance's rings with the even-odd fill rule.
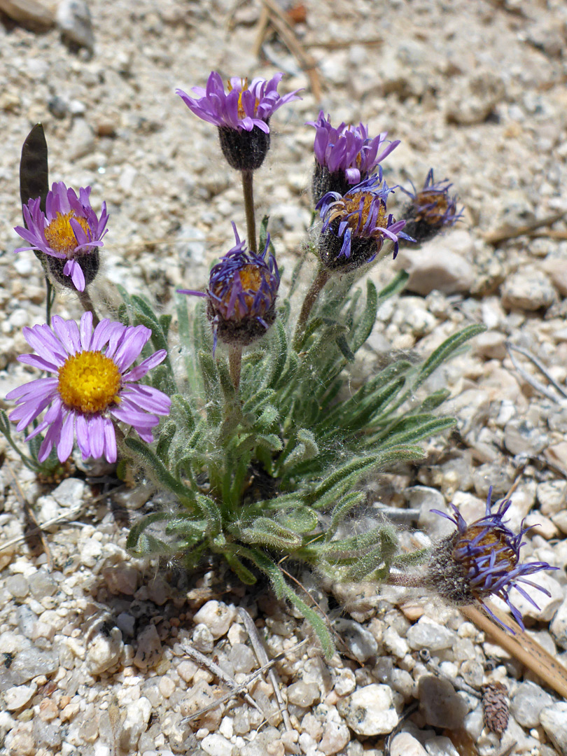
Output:
[[[410,237],[401,230],[405,221],[395,221],[386,209],[392,191],[382,181],[379,167],[377,174],[345,194],[331,191],[319,200],[317,209],[323,221],[319,257],[325,268],[344,273],[355,270],[376,257],[385,238],[392,240],[396,256],[398,238]]]

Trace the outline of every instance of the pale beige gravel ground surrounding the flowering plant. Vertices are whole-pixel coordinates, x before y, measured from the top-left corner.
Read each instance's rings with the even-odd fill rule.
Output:
[[[557,219],[567,212],[567,6],[305,6],[295,32],[318,63],[321,102],[277,36],[253,56],[256,2],[93,0],[91,53],[61,39],[73,4],[62,2],[59,26],[41,32],[0,15],[0,406],[29,380],[15,361],[27,351],[21,327],[45,318],[33,253],[12,254],[29,129],[44,125],[52,181],[91,184],[95,205],[107,202],[95,299],[112,308],[114,284],[128,280],[131,293],[149,289],[167,309],[176,286],[203,285],[212,259],[231,246],[230,221],[244,228],[214,129],[173,91],[204,85],[212,69],[266,78],[281,70],[285,91],[305,91],[274,116],[256,201],[284,262],[293,262],[311,217],[313,130],[303,124],[320,108],[333,123],[362,121],[372,134],[387,129],[401,139],[384,166],[389,183],[419,184],[433,166],[460,194],[465,222],[398,256],[411,274],[407,292],[380,309],[360,365],[364,376],[392,348],[426,355],[464,324],[485,324],[472,349],[435,377],[436,388],[451,389],[445,412],[459,419],[458,443],[436,440],[426,465],[380,476],[376,501],[416,510],[418,529],[407,539],[428,543],[445,532],[430,508],[453,501],[467,518],[480,516],[489,485],[501,497],[516,482],[513,525],[523,516],[541,525],[526,538],[526,555],[560,568],[541,578],[551,597],[538,594],[540,611],[517,603],[531,637],[567,663],[567,400],[552,384],[564,387],[567,377],[567,226]],[[89,44],[84,24],[69,33]],[[370,275],[390,273],[383,263]],[[57,311],[79,315],[67,294]],[[512,352],[516,365],[508,342],[522,350]],[[301,619],[267,590],[246,592],[218,565],[187,578],[175,565],[132,559],[124,519],[151,491],[120,491],[110,510],[108,471],[85,480],[79,469],[40,485],[0,446],[0,753],[382,756],[399,725],[392,756],[488,756],[514,741],[517,754],[567,754],[567,704],[458,612],[408,603],[393,589],[318,582],[313,596],[343,639],[327,664]],[[72,521],[46,535],[52,565],[42,548],[14,543],[25,525],[23,496],[39,522]],[[298,577],[311,586],[309,575]],[[248,686],[248,699],[242,690],[225,699],[265,663],[258,637],[278,658],[282,703],[268,672]],[[491,680],[510,693],[500,744],[483,730],[479,702]],[[414,702],[419,708],[402,720]]]

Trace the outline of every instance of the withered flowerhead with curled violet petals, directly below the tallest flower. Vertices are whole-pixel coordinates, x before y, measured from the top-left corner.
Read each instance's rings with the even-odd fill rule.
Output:
[[[246,242],[240,241],[234,223],[232,228],[236,244],[212,267],[206,292],[178,289],[180,294],[206,297],[214,336],[213,354],[217,339],[246,346],[263,336],[276,318],[280,273],[272,253],[266,261],[270,235],[258,255],[246,250]]]

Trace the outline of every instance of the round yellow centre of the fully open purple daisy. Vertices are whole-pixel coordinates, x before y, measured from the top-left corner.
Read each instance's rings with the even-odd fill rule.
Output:
[[[88,414],[119,403],[120,381],[120,371],[110,357],[101,352],[79,352],[59,368],[57,390],[67,407]]]

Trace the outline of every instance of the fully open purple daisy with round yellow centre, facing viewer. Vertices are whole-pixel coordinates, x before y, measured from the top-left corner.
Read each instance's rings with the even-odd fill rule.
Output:
[[[82,315],[80,327],[58,315],[48,324],[23,328],[23,336],[36,355],[18,357],[24,364],[54,376],[39,378],[11,391],[6,398],[18,406],[10,420],[23,430],[48,407],[43,420],[26,441],[47,430],[39,448],[44,462],[51,449],[64,462],[76,436],[83,459],[106,457],[116,462],[114,420],[131,425],[146,442],[151,429],[169,414],[171,400],[151,386],[136,384],[166,358],[166,350],[154,352],[138,367],[131,366],[151,336],[145,326],[126,327],[101,321],[93,331],[92,313]],[[113,418],[113,419],[112,419]]]

